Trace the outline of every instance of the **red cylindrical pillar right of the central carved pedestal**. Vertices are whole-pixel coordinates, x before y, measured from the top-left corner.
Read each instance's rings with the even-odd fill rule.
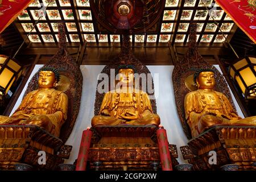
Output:
[[[156,130],[156,137],[158,139],[158,148],[162,170],[172,171],[172,160],[168,147],[166,130],[163,127],[160,127],[158,130]]]

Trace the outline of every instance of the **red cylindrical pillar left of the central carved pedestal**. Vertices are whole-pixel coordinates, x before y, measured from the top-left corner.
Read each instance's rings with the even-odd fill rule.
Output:
[[[82,139],[79,149],[79,156],[76,163],[76,171],[85,171],[86,163],[89,156],[90,140],[92,139],[92,131],[86,129],[82,132]]]

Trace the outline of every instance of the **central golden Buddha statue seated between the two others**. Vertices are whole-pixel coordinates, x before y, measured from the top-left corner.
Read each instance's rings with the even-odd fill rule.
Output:
[[[160,118],[153,114],[147,93],[134,89],[134,69],[119,67],[121,89],[105,93],[99,115],[92,118],[92,126],[98,125],[155,125]]]

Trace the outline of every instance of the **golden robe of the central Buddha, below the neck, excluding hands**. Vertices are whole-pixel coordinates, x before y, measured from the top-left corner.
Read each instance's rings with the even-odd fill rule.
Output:
[[[104,110],[108,114],[104,114]],[[122,113],[136,113],[138,119],[126,120],[120,117]],[[137,90],[133,93],[111,93],[105,94],[101,104],[99,115],[92,118],[92,126],[97,125],[155,125],[160,124],[158,114],[153,114],[150,99],[147,93]]]

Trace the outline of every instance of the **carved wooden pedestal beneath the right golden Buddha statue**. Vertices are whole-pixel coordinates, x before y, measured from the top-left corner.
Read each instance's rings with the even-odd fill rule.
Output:
[[[256,169],[256,127],[216,126],[180,147],[184,159],[196,170],[220,169],[238,164],[240,169]],[[210,151],[217,154],[217,164],[209,164]]]

